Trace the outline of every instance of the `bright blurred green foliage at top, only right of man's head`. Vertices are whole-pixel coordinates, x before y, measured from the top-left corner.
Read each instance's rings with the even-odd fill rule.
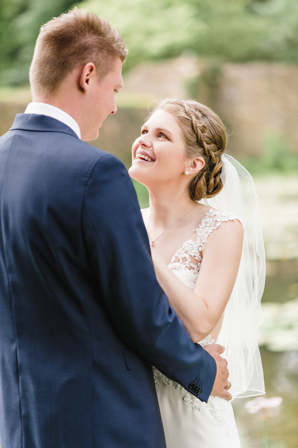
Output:
[[[224,60],[298,61],[297,0],[87,0],[126,39],[129,60],[186,49]]]

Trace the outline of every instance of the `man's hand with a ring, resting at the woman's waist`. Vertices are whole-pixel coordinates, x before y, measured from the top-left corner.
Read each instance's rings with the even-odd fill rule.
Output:
[[[232,396],[228,389],[231,388],[231,383],[228,380],[229,370],[227,368],[227,360],[220,356],[225,351],[222,345],[205,345],[204,349],[208,352],[216,362],[216,377],[213,385],[211,395],[220,396],[225,400],[231,400]]]

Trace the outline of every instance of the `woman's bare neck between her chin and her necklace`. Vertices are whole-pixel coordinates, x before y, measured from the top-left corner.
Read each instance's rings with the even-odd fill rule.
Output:
[[[170,186],[148,188],[150,204],[150,222],[156,227],[168,227],[196,205],[185,189]]]

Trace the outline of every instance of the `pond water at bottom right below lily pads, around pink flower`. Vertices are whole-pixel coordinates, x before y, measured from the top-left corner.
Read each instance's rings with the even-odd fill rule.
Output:
[[[266,396],[281,396],[283,401],[268,419],[262,410],[248,413],[244,404],[250,398],[233,401],[241,448],[297,448],[298,352],[276,353],[262,347],[260,352]]]

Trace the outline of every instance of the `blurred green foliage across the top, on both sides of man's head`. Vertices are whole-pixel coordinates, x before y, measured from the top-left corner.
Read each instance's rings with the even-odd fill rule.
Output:
[[[28,81],[40,26],[73,0],[0,0],[0,82]],[[298,62],[298,0],[87,0],[129,48],[126,68],[193,50],[222,60]]]

